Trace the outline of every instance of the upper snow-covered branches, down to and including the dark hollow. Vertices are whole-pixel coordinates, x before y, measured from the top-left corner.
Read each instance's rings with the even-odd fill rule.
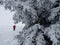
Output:
[[[58,3],[59,0],[0,0],[5,9],[15,11],[13,16],[15,23],[22,22],[28,26],[36,23],[49,26],[56,23],[53,21],[60,9]]]

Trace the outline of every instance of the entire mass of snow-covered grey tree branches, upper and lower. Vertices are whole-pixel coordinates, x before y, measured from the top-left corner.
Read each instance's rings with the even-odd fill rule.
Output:
[[[16,35],[19,45],[60,45],[60,0],[0,0],[15,12],[15,24],[25,24]]]

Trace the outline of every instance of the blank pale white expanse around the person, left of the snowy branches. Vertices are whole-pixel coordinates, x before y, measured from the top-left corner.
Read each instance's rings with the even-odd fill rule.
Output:
[[[17,39],[14,39],[19,31],[22,30],[24,24],[16,24],[16,30],[13,31],[13,14],[9,10],[5,10],[3,6],[0,6],[0,45],[17,45]]]

